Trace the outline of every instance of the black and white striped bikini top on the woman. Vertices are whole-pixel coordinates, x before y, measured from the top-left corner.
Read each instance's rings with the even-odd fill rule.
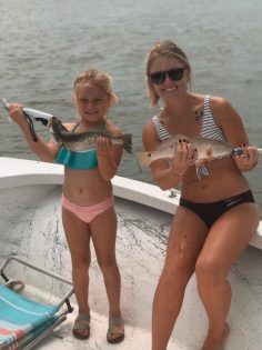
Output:
[[[165,127],[161,123],[158,116],[154,116],[152,118],[152,121],[154,123],[154,128],[157,130],[158,138],[159,138],[160,142],[172,137],[169,133],[169,131],[165,129]],[[204,97],[203,119],[202,119],[200,136],[204,137],[204,138],[226,141],[222,130],[214,122],[214,118],[213,118],[213,114],[212,114],[212,111],[210,108],[210,96],[209,94],[206,94]],[[223,157],[219,157],[219,158],[223,158]],[[206,169],[205,166],[200,166],[200,167],[195,168],[195,171],[196,171],[196,176],[199,179],[201,179],[202,177],[206,177],[209,174],[209,170]]]

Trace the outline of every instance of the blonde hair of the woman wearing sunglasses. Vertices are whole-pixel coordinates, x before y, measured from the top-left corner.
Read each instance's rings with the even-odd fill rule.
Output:
[[[145,82],[147,89],[149,93],[150,104],[152,107],[158,104],[159,96],[157,94],[152,81],[150,79],[150,68],[154,59],[158,57],[174,57],[177,58],[184,67],[189,69],[189,83],[191,82],[191,66],[189,63],[189,59],[184,51],[180,49],[174,42],[170,40],[164,40],[157,42],[152,50],[149,51],[147,59],[145,59]]]

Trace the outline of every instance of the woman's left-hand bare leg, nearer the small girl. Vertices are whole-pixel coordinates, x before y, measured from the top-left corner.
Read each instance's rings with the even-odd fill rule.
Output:
[[[167,349],[206,232],[205,224],[194,212],[178,208],[153,300],[152,350]]]

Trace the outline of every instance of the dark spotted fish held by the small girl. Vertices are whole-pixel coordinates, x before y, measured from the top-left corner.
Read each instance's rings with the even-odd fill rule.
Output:
[[[84,152],[93,149],[98,137],[102,136],[108,138],[111,144],[121,144],[123,149],[132,154],[132,134],[123,133],[120,136],[113,136],[107,130],[90,130],[85,132],[72,132],[68,131],[62,121],[52,117],[48,123],[49,130],[57,142],[61,142],[69,151]]]

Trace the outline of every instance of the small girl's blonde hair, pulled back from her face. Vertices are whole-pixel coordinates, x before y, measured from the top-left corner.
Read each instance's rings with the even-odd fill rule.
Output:
[[[78,93],[79,87],[89,83],[107,92],[111,97],[111,104],[118,102],[118,97],[112,89],[112,78],[108,73],[97,69],[82,71],[78,74],[73,82],[73,90],[75,94]]]

